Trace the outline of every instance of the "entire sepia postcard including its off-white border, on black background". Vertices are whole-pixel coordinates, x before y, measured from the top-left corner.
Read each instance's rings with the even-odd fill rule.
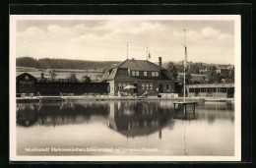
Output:
[[[240,161],[238,15],[11,15],[11,161]]]

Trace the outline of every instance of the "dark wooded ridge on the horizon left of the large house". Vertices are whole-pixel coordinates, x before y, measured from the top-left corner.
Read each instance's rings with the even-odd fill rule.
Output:
[[[49,58],[36,60],[32,57],[21,57],[16,59],[17,66],[37,69],[104,70],[117,63],[118,61],[83,61]]]

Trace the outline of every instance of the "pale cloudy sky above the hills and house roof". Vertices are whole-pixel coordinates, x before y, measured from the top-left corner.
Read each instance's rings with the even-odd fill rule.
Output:
[[[188,61],[233,64],[233,21],[24,20],[17,21],[17,57],[123,61],[181,61],[186,28]]]

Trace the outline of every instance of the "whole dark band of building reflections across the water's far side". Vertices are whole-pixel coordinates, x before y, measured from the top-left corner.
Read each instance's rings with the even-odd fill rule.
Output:
[[[234,121],[233,104],[198,105],[196,120],[212,124],[216,119]],[[17,124],[58,126],[104,122],[111,130],[126,137],[150,135],[174,124],[179,114],[173,114],[168,101],[88,101],[18,103]],[[183,113],[180,114],[183,116]],[[92,116],[93,119],[92,119]]]

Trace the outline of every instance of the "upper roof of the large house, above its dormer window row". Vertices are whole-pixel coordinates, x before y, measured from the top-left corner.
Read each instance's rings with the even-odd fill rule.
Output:
[[[114,68],[123,68],[135,71],[160,71],[166,70],[165,68],[160,67],[157,64],[154,64],[148,60],[125,60],[121,63],[116,64],[115,66],[111,67],[110,69]]]

